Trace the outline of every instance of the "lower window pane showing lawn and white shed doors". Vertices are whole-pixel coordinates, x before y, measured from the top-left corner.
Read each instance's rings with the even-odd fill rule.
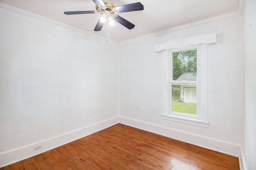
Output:
[[[172,84],[172,112],[196,115],[195,84]]]

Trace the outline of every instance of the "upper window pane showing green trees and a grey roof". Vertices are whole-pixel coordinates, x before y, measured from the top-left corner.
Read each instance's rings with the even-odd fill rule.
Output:
[[[172,80],[197,80],[196,49],[172,53]]]

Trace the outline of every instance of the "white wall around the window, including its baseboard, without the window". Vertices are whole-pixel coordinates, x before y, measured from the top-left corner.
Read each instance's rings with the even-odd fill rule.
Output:
[[[199,127],[163,120],[162,53],[154,45],[217,32],[208,45],[208,121]],[[120,44],[120,121],[239,156],[242,144],[241,17],[168,31]]]

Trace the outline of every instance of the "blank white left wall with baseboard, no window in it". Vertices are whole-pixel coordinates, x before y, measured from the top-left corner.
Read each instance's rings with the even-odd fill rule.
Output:
[[[3,8],[0,21],[0,167],[118,123],[116,44]]]

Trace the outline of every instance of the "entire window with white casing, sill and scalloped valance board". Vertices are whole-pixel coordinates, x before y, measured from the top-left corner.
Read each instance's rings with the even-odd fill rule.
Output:
[[[162,53],[162,119],[208,127],[208,44],[216,33],[156,44]]]

